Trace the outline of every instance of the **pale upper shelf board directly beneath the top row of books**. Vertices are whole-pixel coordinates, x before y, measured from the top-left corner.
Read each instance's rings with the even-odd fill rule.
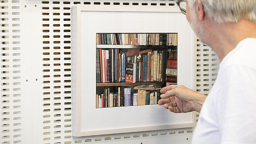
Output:
[[[164,49],[164,48],[171,48],[177,47],[173,45],[111,45],[111,44],[97,44],[96,48],[157,48],[157,49]]]

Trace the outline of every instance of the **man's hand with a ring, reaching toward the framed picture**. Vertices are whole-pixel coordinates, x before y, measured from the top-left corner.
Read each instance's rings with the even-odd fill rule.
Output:
[[[192,111],[201,111],[201,107],[206,96],[184,87],[184,85],[169,85],[160,90],[161,98],[159,105],[163,105],[174,113],[186,113]],[[175,103],[173,102],[175,101]]]

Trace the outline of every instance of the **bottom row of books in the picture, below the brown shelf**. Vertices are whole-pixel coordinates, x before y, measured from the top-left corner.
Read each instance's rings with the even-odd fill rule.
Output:
[[[105,87],[103,94],[96,95],[96,108],[157,104],[161,95],[160,89],[153,85],[140,85],[122,90],[118,87],[118,92],[113,93]]]

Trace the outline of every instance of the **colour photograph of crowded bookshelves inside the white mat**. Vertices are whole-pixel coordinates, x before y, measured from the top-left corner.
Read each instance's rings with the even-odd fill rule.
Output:
[[[177,84],[177,33],[97,33],[96,108],[157,104]]]

